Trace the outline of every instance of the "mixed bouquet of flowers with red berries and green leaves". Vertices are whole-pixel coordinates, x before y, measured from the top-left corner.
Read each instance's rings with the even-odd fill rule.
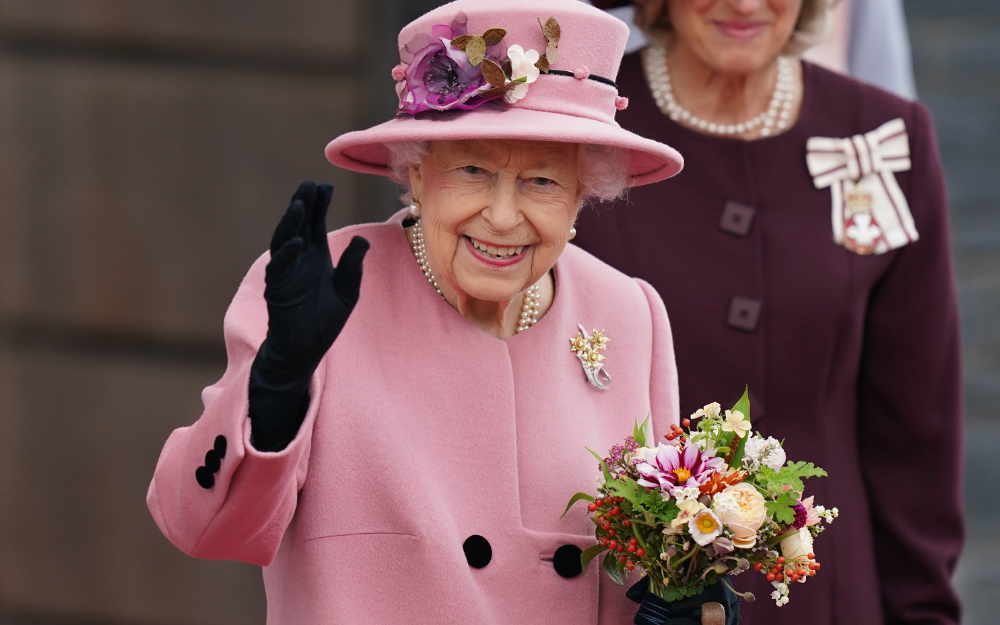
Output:
[[[788,603],[791,582],[819,571],[813,538],[838,513],[804,496],[802,480],[826,472],[786,462],[781,442],[751,433],[749,414],[744,392],[724,414],[713,403],[673,425],[666,443],[647,446],[637,421],[607,457],[591,451],[601,463],[598,494],[577,493],[566,507],[590,502],[598,544],[584,550],[584,568],[605,554],[604,571],[622,584],[639,567],[649,592],[670,602],[729,586],[725,575],[752,567],[772,583],[775,602]]]

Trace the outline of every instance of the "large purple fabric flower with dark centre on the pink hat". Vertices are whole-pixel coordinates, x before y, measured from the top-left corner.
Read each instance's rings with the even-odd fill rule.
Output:
[[[438,24],[430,35],[418,34],[400,50],[400,61],[407,64],[403,80],[396,85],[400,113],[474,109],[499,97],[480,97],[492,88],[483,78],[482,67],[473,66],[465,52],[450,45],[464,34],[466,20],[460,13],[451,26]],[[487,58],[499,62],[495,55]]]

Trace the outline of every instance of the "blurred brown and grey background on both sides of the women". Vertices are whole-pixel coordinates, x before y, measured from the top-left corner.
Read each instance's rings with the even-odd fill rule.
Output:
[[[393,113],[396,33],[437,4],[0,0],[0,625],[264,622],[260,569],[175,550],[146,487],[221,376],[226,306],[298,183],[334,182],[331,229],[399,207],[323,147]],[[957,583],[965,622],[985,625],[1000,614],[1000,3],[903,5],[951,197]]]

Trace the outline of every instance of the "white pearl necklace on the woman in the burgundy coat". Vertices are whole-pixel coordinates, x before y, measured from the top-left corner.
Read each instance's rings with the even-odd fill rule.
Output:
[[[737,135],[749,132],[758,126],[760,136],[767,137],[771,133],[782,131],[788,127],[792,115],[792,100],[795,99],[795,77],[792,73],[792,62],[785,56],[778,57],[778,82],[774,85],[774,94],[767,110],[750,121],[740,124],[716,124],[705,121],[682,107],[674,99],[670,85],[670,71],[667,69],[667,51],[662,46],[650,46],[646,53],[646,79],[656,105],[670,119],[681,121],[717,135]],[[780,112],[779,112],[780,109]]]

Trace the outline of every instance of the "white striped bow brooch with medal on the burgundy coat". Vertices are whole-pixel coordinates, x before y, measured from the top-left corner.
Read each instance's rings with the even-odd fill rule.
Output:
[[[806,165],[817,189],[830,187],[833,240],[861,255],[916,241],[917,228],[894,172],[910,169],[902,119],[848,139],[812,137]]]

